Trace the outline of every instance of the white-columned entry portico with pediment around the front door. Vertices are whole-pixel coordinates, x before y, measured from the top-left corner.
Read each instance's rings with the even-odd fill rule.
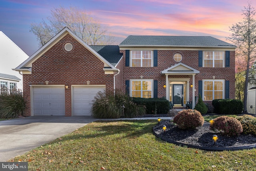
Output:
[[[162,76],[166,76],[166,99],[172,101],[174,106],[185,106],[189,101],[190,77],[192,76],[192,99],[195,99],[195,75],[200,71],[178,63],[172,67],[161,71]],[[175,75],[175,78],[169,78],[169,75]],[[187,75],[187,78],[178,77]],[[195,107],[195,100],[192,100],[192,108]]]

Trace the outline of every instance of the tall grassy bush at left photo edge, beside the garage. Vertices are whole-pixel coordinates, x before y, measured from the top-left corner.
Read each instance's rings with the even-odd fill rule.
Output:
[[[26,102],[23,98],[22,92],[8,91],[0,95],[0,118],[18,118],[22,116],[25,110]]]

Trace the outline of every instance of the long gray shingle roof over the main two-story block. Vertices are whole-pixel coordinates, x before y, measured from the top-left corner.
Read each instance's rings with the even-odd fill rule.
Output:
[[[211,36],[152,36],[152,35],[129,35],[122,43],[122,45],[156,45],[156,46],[225,46],[236,47],[225,41],[216,39]]]

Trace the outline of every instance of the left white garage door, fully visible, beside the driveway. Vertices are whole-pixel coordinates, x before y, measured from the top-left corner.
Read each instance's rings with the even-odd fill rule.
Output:
[[[64,87],[34,87],[34,116],[65,116]]]

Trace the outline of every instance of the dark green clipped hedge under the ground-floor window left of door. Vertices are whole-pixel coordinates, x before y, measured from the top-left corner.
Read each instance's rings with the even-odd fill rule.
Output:
[[[138,98],[132,101],[146,107],[147,114],[167,114],[170,110],[170,102],[164,98]]]

